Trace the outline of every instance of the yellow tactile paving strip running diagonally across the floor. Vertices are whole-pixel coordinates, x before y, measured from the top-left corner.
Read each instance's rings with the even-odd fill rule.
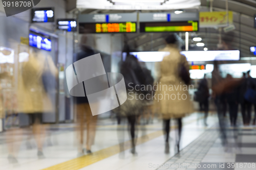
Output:
[[[203,117],[201,117],[201,118],[203,118]],[[197,119],[190,120],[190,121],[186,122],[185,124],[190,124],[195,121],[197,121]],[[176,128],[176,126],[172,126],[171,128],[174,129],[174,128]],[[162,135],[163,135],[163,131],[160,130],[160,131],[156,131],[156,132],[147,134],[145,136],[138,137],[137,141],[136,141],[136,145],[150,141],[150,140],[157,138],[159,136],[162,136]],[[121,144],[123,144],[124,150],[131,149],[131,141],[126,141]],[[111,157],[115,154],[118,154],[120,152],[119,146],[121,144],[117,144],[117,145],[114,145],[113,147],[109,147],[109,148],[94,152],[93,154],[84,155],[84,156],[81,156],[81,157],[78,157],[75,159],[71,159],[69,161],[59,163],[57,165],[54,165],[54,166],[51,166],[51,167],[48,167],[45,169],[41,169],[41,170],[78,170],[80,168],[91,165],[95,162],[98,162],[102,159],[105,159],[105,158]]]

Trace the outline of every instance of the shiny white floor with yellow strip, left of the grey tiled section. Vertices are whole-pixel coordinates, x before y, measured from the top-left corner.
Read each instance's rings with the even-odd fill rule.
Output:
[[[202,122],[197,122],[198,115],[192,114],[183,119],[183,133],[181,149],[185,148],[191,142],[202,135],[207,128]],[[209,127],[217,123],[216,116],[209,116]],[[174,126],[174,122],[171,124]],[[0,133],[0,169],[15,170],[39,170],[39,169],[156,169],[150,167],[150,164],[161,164],[175,155],[175,137],[174,127],[170,132],[170,154],[164,154],[164,137],[162,135],[162,121],[155,119],[154,124],[139,126],[138,137],[141,140],[137,142],[137,155],[132,155],[130,149],[119,153],[119,139],[117,128],[123,132],[124,142],[130,140],[126,125],[117,126],[111,119],[99,120],[97,127],[95,144],[92,147],[94,153],[103,153],[110,151],[108,157],[103,159],[88,155],[77,157],[77,135],[73,124],[52,125],[48,130],[47,140],[44,145],[45,159],[38,159],[36,156],[36,144],[33,137],[20,132],[17,138],[22,142],[17,156],[18,163],[10,164],[8,156],[8,133]],[[21,136],[21,137],[20,137]],[[20,142],[16,141],[16,142]],[[15,145],[15,143],[14,143]],[[30,145],[30,147],[28,147]],[[128,144],[130,147],[130,144]],[[92,161],[93,159],[93,161]],[[73,165],[77,166],[73,166]],[[65,168],[59,168],[65,165]],[[78,166],[79,165],[79,166]]]

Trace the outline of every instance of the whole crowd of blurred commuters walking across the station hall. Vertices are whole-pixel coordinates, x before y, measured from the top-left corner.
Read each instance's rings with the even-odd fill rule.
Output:
[[[73,62],[96,54],[93,48],[86,45],[86,42],[87,38],[82,37],[80,42],[81,51],[74,57]],[[163,122],[165,136],[165,150],[163,152],[165,154],[168,154],[170,150],[169,132],[171,120],[173,119],[177,123],[175,146],[176,152],[179,153],[182,118],[195,112],[193,101],[188,93],[188,86],[191,85],[191,80],[186,57],[180,54],[174,34],[167,36],[165,43],[166,46],[159,51],[169,52],[169,55],[165,56],[162,62],[156,63],[156,70],[154,71],[158,74],[155,79],[152,77],[151,70],[143,66],[129,52],[127,52],[126,59],[120,63],[120,73],[124,77],[128,98],[124,104],[113,110],[113,114],[118,125],[126,122],[128,124],[132,154],[136,154],[136,126],[141,124],[142,119],[145,120],[145,124],[153,123],[155,116],[162,119]],[[256,82],[250,77],[250,71],[244,72],[243,77],[240,79],[234,79],[229,74],[226,78],[223,78],[221,77],[219,64],[219,61],[214,62],[211,80],[207,79],[206,76],[200,80],[197,91],[194,94],[194,100],[199,103],[200,111],[204,112],[205,126],[207,126],[210,101],[214,101],[219,118],[222,142],[227,145],[227,129],[229,125],[234,129],[239,127],[237,124],[239,105],[241,107],[243,125],[255,125]],[[35,137],[38,158],[44,158],[42,143],[45,140],[47,126],[42,125],[42,113],[51,113],[53,110],[49,96],[54,93],[56,85],[53,82],[56,82],[57,79],[57,68],[49,57],[45,58],[30,54],[28,61],[20,64],[19,69],[15,112],[27,114],[30,123],[28,127],[7,130],[7,133],[10,134],[8,135],[8,140],[10,141],[8,159],[12,163],[17,162],[16,156],[20,145],[20,142],[14,141],[22,141],[17,140],[20,137],[17,134],[23,134],[28,131],[31,131],[31,136]],[[211,81],[211,84],[209,81]],[[145,89],[143,87],[153,88]],[[212,89],[211,94],[209,87]],[[138,99],[135,95],[151,97]],[[161,96],[161,99],[156,99],[155,96]],[[87,96],[74,97],[74,103],[76,108],[78,156],[91,154],[93,153],[91,147],[94,144],[95,134],[97,133],[98,116],[92,115]],[[253,119],[252,106],[255,110]],[[227,110],[229,112],[229,121],[227,121]],[[84,136],[84,130],[87,132],[86,137]],[[124,142],[123,133],[123,131],[118,131],[117,134],[121,152],[124,150],[122,145]],[[85,138],[86,140],[84,140]]]

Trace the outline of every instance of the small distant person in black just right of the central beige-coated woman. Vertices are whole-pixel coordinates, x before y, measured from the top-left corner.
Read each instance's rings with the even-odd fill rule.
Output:
[[[199,82],[198,90],[195,92],[196,99],[199,102],[200,110],[204,111],[204,125],[207,126],[207,117],[209,111],[209,87],[207,80],[204,78]]]

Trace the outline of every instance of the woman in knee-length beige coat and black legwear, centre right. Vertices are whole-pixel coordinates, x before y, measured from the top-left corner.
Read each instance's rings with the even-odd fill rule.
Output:
[[[179,152],[179,143],[182,129],[182,117],[193,112],[193,104],[189,99],[188,89],[193,86],[186,85],[179,76],[178,69],[181,64],[189,69],[185,56],[182,56],[177,48],[175,35],[170,35],[165,39],[166,47],[160,52],[169,52],[159,64],[156,90],[157,100],[155,104],[159,110],[164,122],[165,132],[165,153],[169,153],[169,130],[170,119],[177,119],[178,123],[178,140],[177,150]]]

